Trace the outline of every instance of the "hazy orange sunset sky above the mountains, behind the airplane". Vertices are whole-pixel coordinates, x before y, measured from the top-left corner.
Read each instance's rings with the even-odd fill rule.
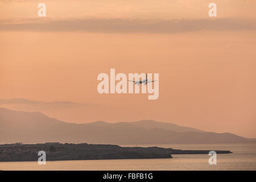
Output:
[[[44,2],[40,19],[39,1],[0,1],[0,99],[80,105],[0,107],[67,122],[155,119],[256,137],[255,1],[213,1],[214,20],[205,0]],[[158,100],[98,94],[97,75],[110,68],[159,73]]]

